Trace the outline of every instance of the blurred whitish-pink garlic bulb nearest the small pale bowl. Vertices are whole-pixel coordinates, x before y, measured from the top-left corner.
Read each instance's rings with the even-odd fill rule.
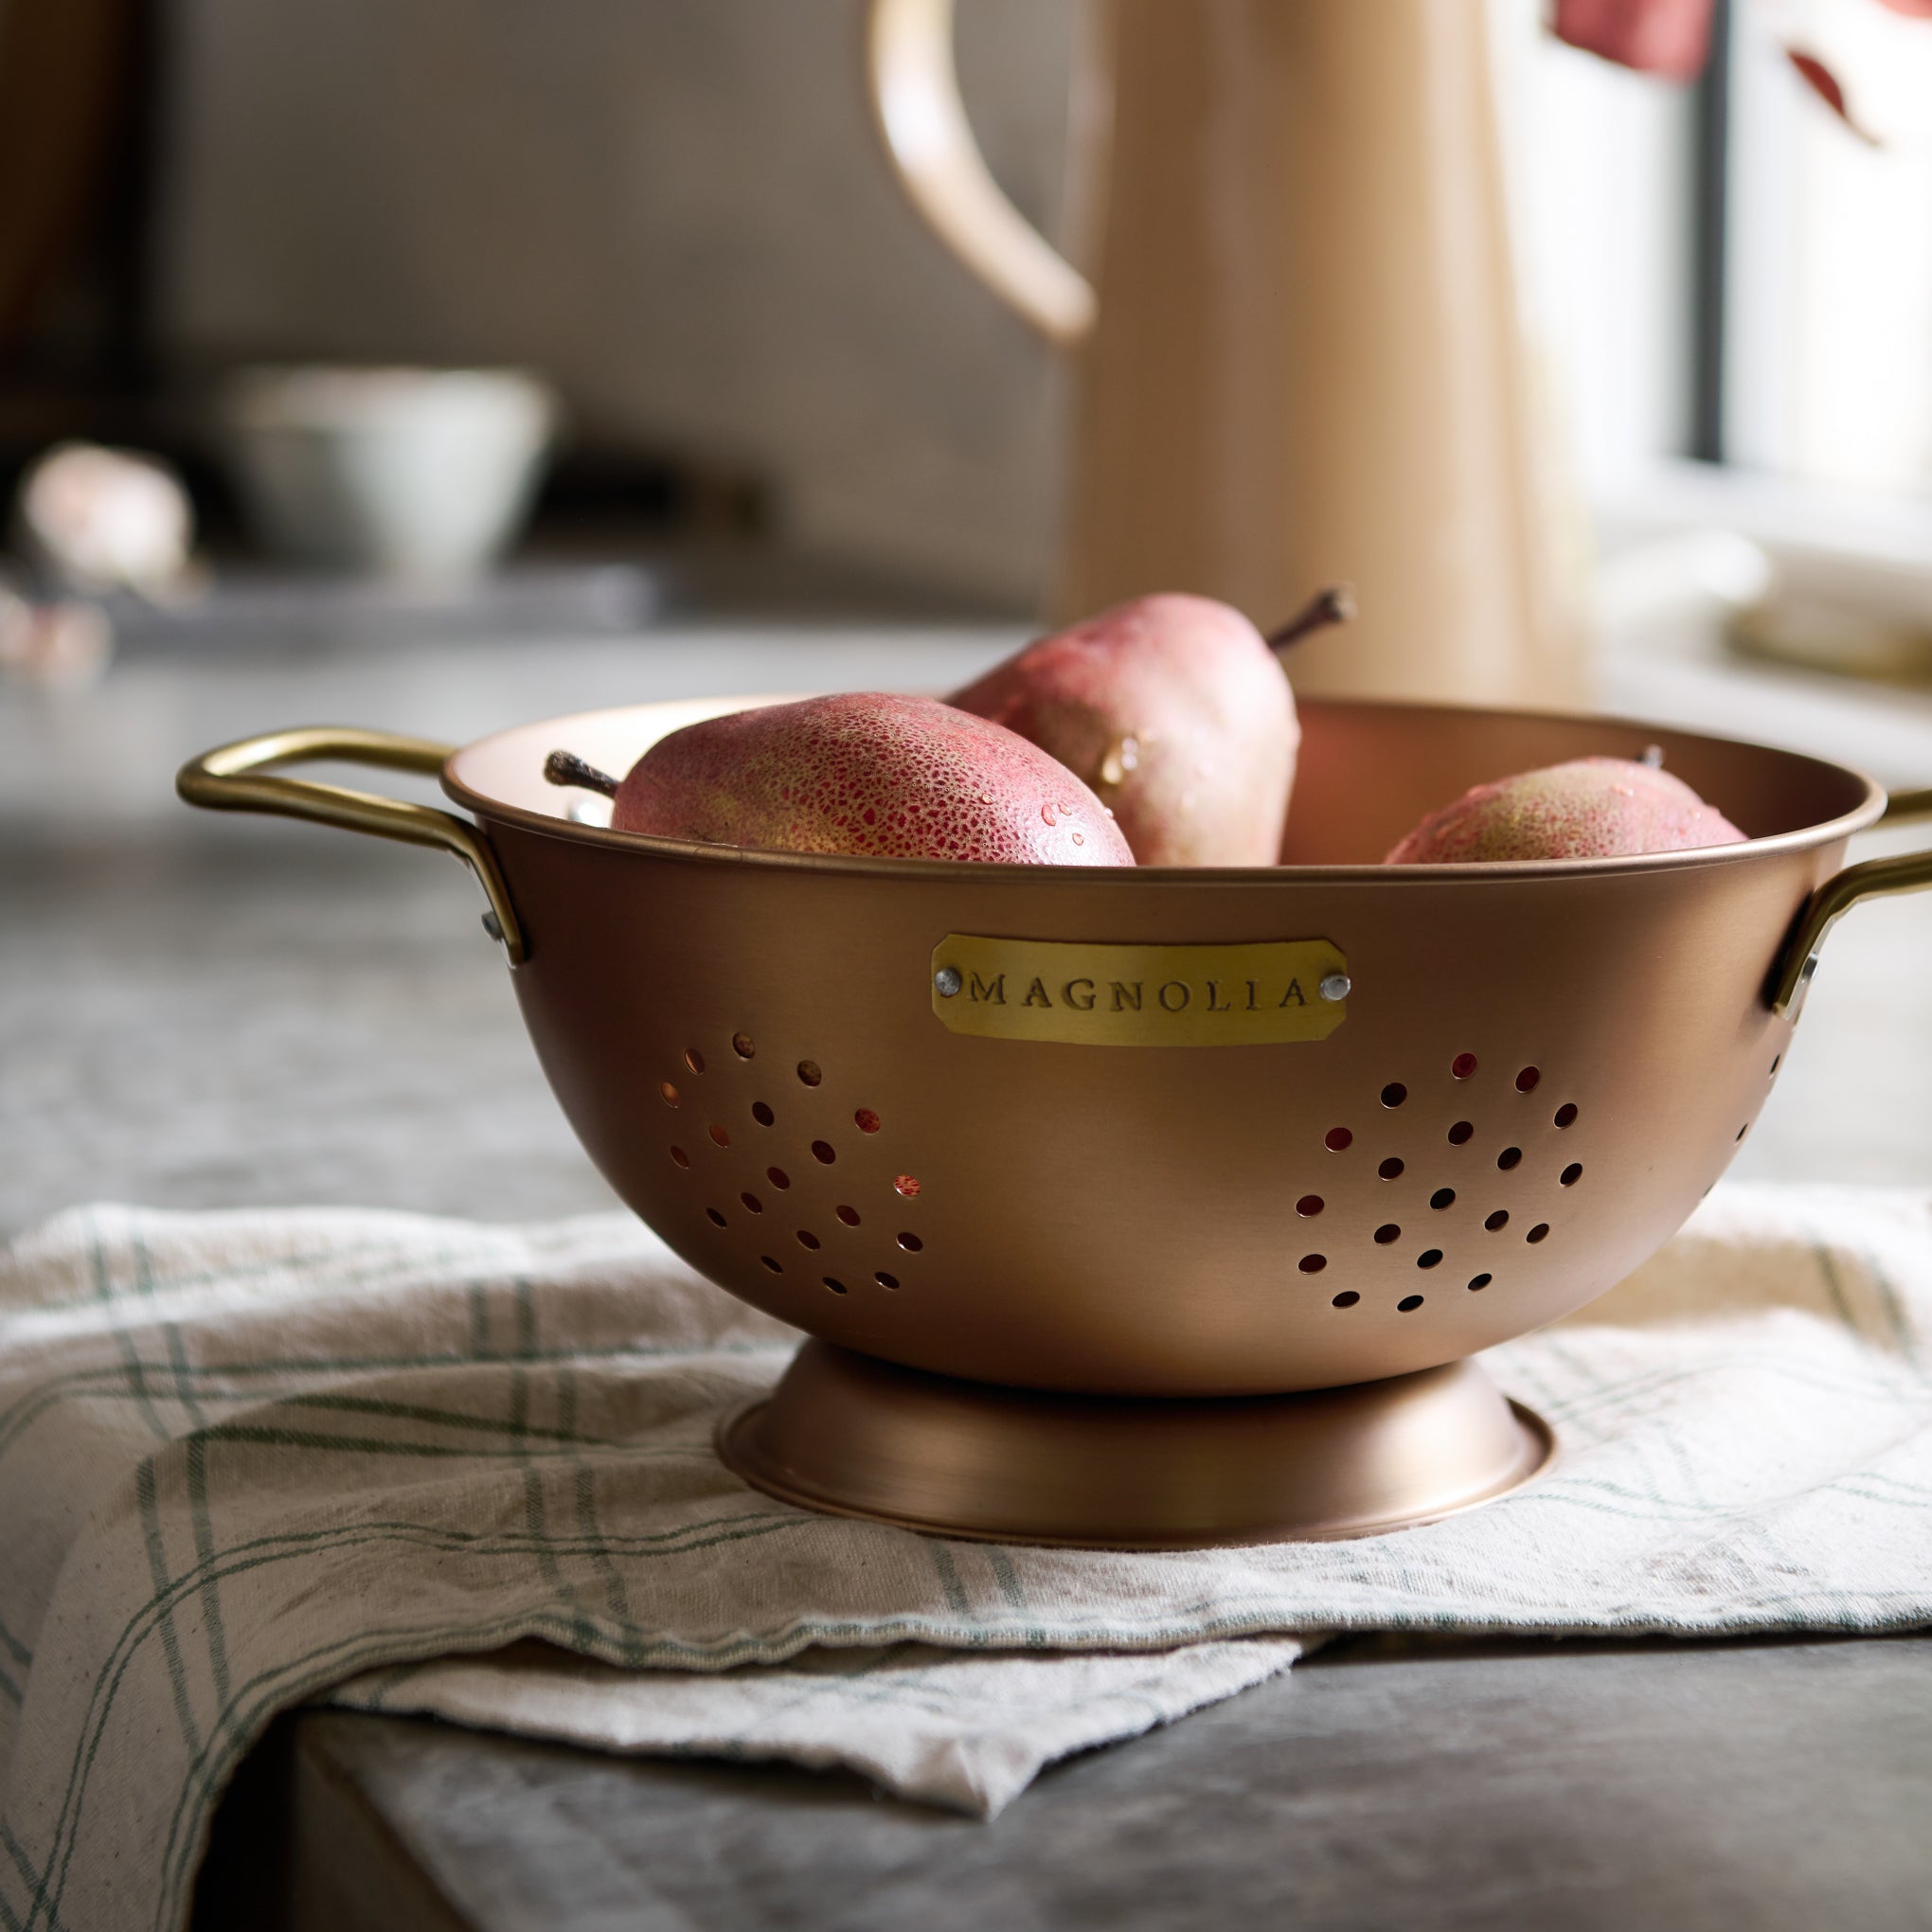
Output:
[[[164,464],[131,450],[62,442],[19,489],[21,547],[75,589],[158,595],[187,568],[193,512]]]

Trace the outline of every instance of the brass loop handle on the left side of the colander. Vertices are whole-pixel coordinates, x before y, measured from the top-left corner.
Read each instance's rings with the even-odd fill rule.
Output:
[[[412,806],[402,798],[352,792],[313,779],[270,779],[274,765],[313,765],[332,759],[342,765],[381,765],[388,771],[439,773],[454,746],[433,738],[398,738],[392,732],[357,730],[352,724],[298,724],[292,730],[263,732],[236,744],[216,746],[191,757],[176,773],[174,788],[191,806],[207,811],[272,811],[288,819],[313,819],[375,838],[439,846],[454,852],[489,896],[495,929],[512,966],[527,956],[524,927],[510,904],[497,854],[468,819],[435,806]]]

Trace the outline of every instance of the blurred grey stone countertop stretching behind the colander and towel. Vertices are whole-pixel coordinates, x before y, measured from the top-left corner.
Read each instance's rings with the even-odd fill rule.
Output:
[[[172,794],[187,753],[292,723],[466,740],[643,697],[947,690],[1018,636],[694,626],[176,651],[64,705],[0,690],[0,1231],[87,1198],[497,1219],[609,1206],[524,1039],[473,883],[406,846],[187,811]],[[1609,697],[1932,781],[1926,697],[1687,653],[1619,661]],[[1861,852],[1926,837],[1901,827]],[[1932,895],[1861,908],[1832,935],[1735,1173],[1932,1180],[1926,960]]]

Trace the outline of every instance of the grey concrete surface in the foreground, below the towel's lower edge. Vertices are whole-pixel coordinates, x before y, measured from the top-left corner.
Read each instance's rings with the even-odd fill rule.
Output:
[[[350,1714],[301,1716],[253,1776],[197,1932],[1932,1922],[1926,1636],[1337,1644],[1049,1770],[991,1826],[848,1776]]]

